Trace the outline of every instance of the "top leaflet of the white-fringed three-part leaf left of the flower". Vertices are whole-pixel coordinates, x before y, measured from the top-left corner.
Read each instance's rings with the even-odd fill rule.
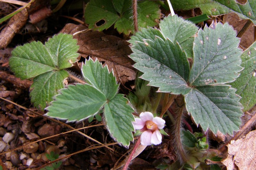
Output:
[[[119,85],[113,73],[109,74],[108,67],[102,68],[101,63],[92,59],[85,61],[85,67],[82,67],[82,74],[85,81],[103,92],[108,100],[111,100],[117,93]]]

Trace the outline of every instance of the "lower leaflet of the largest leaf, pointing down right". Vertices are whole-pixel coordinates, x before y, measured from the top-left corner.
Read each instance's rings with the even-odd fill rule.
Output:
[[[185,95],[188,112],[196,124],[213,133],[233,134],[241,124],[241,105],[235,89],[227,85],[201,86]]]

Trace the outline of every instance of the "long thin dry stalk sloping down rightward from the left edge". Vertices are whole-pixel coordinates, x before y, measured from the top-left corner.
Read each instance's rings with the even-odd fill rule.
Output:
[[[2,98],[2,97],[0,97],[0,99],[5,100],[5,101],[7,101],[7,102],[10,102],[10,103],[12,103],[12,104],[14,104],[14,105],[16,105],[16,106],[18,106],[18,107],[20,107],[20,108],[23,108],[24,110],[30,111],[30,112],[32,112],[32,113],[34,113],[34,114],[36,114],[36,115],[38,115],[38,116],[41,116],[41,117],[43,117],[43,118],[45,118],[45,119],[51,120],[51,121],[53,121],[53,122],[60,123],[60,124],[63,125],[63,126],[66,126],[66,127],[70,128],[70,129],[73,129],[73,130],[76,130],[75,128],[73,128],[72,126],[69,126],[69,125],[66,124],[66,123],[60,122],[60,121],[58,121],[58,120],[49,118],[49,117],[44,116],[44,115],[40,115],[39,113],[36,113],[35,111],[30,110],[30,109],[28,109],[28,108],[26,108],[26,107],[20,106],[20,105],[18,105],[17,103],[14,103],[14,102],[11,101],[11,100],[7,100],[7,99],[4,99],[4,98]],[[98,144],[104,145],[104,144],[100,143],[99,141],[97,141],[96,139],[93,139],[92,137],[89,137],[88,135],[85,135],[83,132],[80,132],[79,130],[76,130],[76,132],[77,132],[77,133],[80,133],[80,134],[83,135],[84,137],[87,137],[87,138],[91,139],[92,141],[94,141],[94,142],[96,142],[96,143],[98,143]],[[111,151],[114,152],[114,149],[109,148],[108,146],[106,146],[106,147],[107,147],[108,149],[110,149]]]

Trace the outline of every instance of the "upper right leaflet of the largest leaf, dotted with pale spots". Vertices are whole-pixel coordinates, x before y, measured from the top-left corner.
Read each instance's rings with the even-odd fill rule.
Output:
[[[194,63],[192,65],[190,85],[202,86],[225,84],[238,77],[241,49],[237,48],[239,38],[228,24],[212,24],[199,30],[195,37]]]

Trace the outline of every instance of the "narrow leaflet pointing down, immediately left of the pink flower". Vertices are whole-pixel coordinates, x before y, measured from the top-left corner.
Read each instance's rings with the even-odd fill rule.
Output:
[[[110,134],[116,138],[116,141],[129,146],[133,141],[131,131],[135,131],[132,125],[134,117],[131,114],[133,109],[127,105],[128,100],[123,94],[116,96],[105,105],[105,120]]]

